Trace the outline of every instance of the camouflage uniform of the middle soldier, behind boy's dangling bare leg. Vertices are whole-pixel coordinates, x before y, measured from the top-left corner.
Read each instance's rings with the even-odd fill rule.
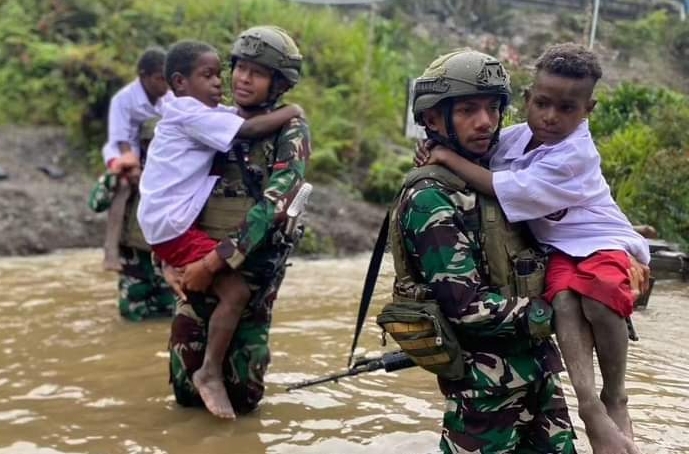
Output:
[[[310,151],[308,125],[301,118],[292,119],[277,135],[250,144],[249,163],[272,172],[264,174],[263,200],[249,209],[239,231],[217,249],[232,268],[241,271],[252,291],[223,367],[227,394],[238,413],[255,409],[263,398],[273,303],[285,273],[284,267],[276,266],[285,251],[272,244],[272,237],[304,180]],[[246,190],[238,166],[229,164],[214,191],[243,196]],[[203,363],[206,329],[216,304],[214,295],[199,294],[177,305],[169,345],[170,382],[177,402],[184,406],[203,405],[191,376]]]

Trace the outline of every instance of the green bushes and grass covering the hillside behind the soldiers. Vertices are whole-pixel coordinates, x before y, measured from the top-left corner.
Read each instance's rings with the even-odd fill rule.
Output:
[[[482,4],[470,29],[485,22],[495,33],[518,33],[513,28],[518,15]],[[434,43],[410,31],[415,25],[410,15],[423,13],[419,5],[385,2],[370,20],[366,10],[343,19],[342,10],[284,0],[4,0],[0,124],[64,125],[95,171],[101,166],[109,99],[135,76],[145,47],[193,37],[214,44],[226,57],[238,31],[272,23],[287,29],[305,56],[304,78],[286,101],[301,104],[309,116],[314,145],[309,179],[385,203],[411,166],[411,144],[402,133],[406,80],[448,50],[444,36]],[[458,23],[468,17],[462,10],[467,5],[456,3]],[[549,42],[582,36],[585,24],[582,15],[561,15],[553,30],[538,30],[520,48],[524,61]],[[654,68],[689,71],[689,21],[664,12],[603,23],[599,40],[622,62],[637,58]],[[524,69],[510,70],[515,109],[508,122],[514,122],[530,77]],[[689,103],[686,95],[661,85],[668,79],[672,76],[652,79],[653,86],[602,87],[591,129],[613,193],[631,220],[685,241]]]

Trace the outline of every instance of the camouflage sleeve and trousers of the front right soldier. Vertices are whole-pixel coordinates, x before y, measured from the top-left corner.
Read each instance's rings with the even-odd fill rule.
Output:
[[[466,376],[438,379],[443,395],[462,410],[454,412],[451,405],[446,414],[441,448],[482,454],[511,453],[515,446],[525,446],[518,452],[574,452],[574,433],[555,376],[564,370],[559,352],[552,339],[529,335],[528,299],[506,299],[487,284],[478,238],[465,225],[471,218],[465,215],[478,209],[476,200],[470,189],[452,190],[430,180],[401,195],[394,220],[410,264],[455,325],[464,349]],[[557,417],[551,421],[553,409]],[[552,430],[559,450],[526,450],[529,440],[544,439],[546,429]]]

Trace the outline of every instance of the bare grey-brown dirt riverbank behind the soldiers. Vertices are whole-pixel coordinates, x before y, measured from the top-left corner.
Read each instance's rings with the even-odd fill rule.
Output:
[[[0,127],[0,256],[103,244],[106,214],[87,206],[95,177],[83,161],[61,128]],[[308,251],[370,250],[384,215],[382,207],[317,185],[304,216]]]

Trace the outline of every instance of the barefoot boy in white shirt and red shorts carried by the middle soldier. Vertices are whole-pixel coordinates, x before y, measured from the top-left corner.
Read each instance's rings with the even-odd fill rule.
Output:
[[[244,121],[236,109],[220,104],[221,70],[217,51],[198,41],[174,44],[165,61],[175,98],[163,107],[150,144],[137,215],[155,254],[174,267],[199,260],[218,245],[194,225],[218,179],[209,175],[216,152],[226,153],[235,135],[267,135],[302,115],[298,106],[287,106]],[[209,322],[203,365],[192,380],[211,413],[234,419],[222,382],[222,359],[250,292],[237,271],[209,276],[219,303]],[[205,291],[210,284],[187,290]]]

